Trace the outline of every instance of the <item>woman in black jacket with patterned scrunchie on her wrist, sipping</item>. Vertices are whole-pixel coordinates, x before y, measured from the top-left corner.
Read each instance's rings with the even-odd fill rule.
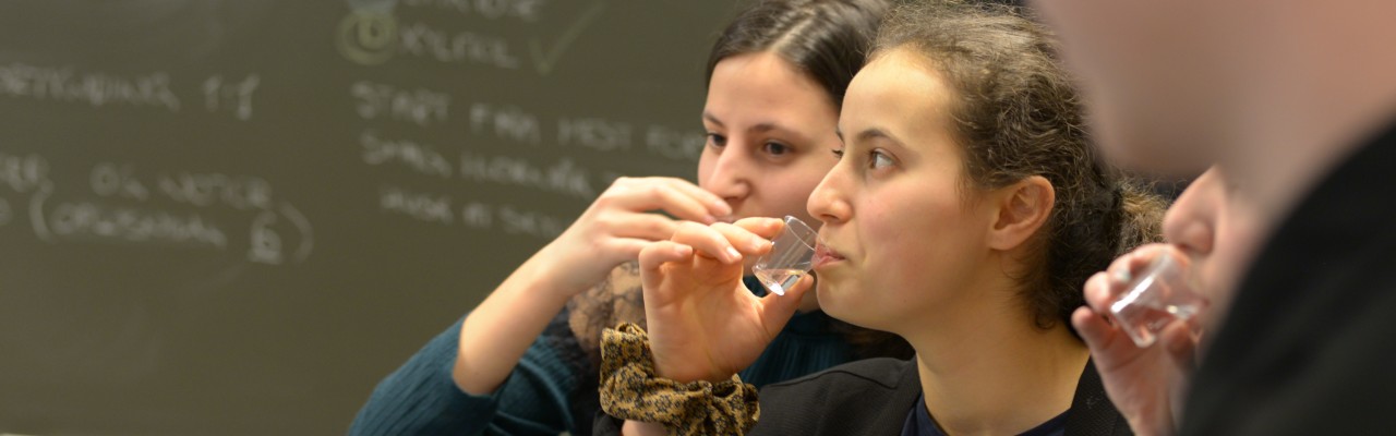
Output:
[[[783,296],[743,286],[740,259],[771,250],[779,221],[690,222],[639,254],[648,338],[606,333],[606,412],[639,435],[1129,433],[1071,313],[1092,272],[1159,239],[1163,204],[1096,159],[1050,35],[1009,7],[903,6],[838,123],[839,162],[808,198],[815,293],[916,358],[840,365],[758,400],[734,375],[811,281]]]

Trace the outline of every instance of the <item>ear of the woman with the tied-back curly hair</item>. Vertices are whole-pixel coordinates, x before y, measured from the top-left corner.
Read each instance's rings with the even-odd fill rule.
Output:
[[[995,191],[995,219],[988,229],[988,246],[1012,250],[1037,233],[1051,217],[1057,190],[1043,176],[1032,176]]]

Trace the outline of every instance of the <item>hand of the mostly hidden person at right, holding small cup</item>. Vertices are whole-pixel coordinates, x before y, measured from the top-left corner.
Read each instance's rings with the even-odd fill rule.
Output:
[[[1182,390],[1195,366],[1198,317],[1171,321],[1159,333],[1159,344],[1139,348],[1101,314],[1110,313],[1110,303],[1127,291],[1131,277],[1157,256],[1168,256],[1164,250],[1168,246],[1161,243],[1142,246],[1092,275],[1085,286],[1089,307],[1076,309],[1071,319],[1090,348],[1106,394],[1136,435],[1174,433]]]

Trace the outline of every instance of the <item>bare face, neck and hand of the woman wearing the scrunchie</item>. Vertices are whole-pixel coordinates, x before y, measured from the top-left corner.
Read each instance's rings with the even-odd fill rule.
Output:
[[[962,191],[952,98],[928,60],[905,49],[854,77],[839,119],[842,158],[808,201],[826,242],[817,293],[829,314],[912,342],[924,407],[942,428],[1019,433],[1069,408],[1087,351],[1062,324],[1034,327],[1015,298],[1019,259],[1055,201],[1051,183]],[[641,252],[658,376],[725,380],[789,320],[808,279],[783,298],[755,298],[738,282],[740,260],[769,250],[779,226],[685,224]]]

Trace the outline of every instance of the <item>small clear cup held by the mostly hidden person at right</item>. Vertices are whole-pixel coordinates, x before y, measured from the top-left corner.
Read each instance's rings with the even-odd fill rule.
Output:
[[[1188,320],[1208,305],[1192,291],[1178,256],[1174,250],[1160,252],[1110,303],[1110,317],[1139,348],[1153,345],[1173,320]]]

